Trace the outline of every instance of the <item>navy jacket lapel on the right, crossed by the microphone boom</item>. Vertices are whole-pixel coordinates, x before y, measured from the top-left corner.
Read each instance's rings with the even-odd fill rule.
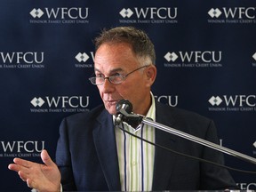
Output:
[[[169,113],[169,114],[167,114]],[[170,116],[170,110],[166,111],[163,104],[156,102],[156,122],[171,126],[175,124],[174,119]],[[156,144],[164,148],[176,149],[176,139],[168,132],[156,129]],[[172,156],[172,152],[163,148],[155,150],[155,166],[152,190],[164,190],[168,187],[172,175],[172,168],[175,166],[176,156]]]

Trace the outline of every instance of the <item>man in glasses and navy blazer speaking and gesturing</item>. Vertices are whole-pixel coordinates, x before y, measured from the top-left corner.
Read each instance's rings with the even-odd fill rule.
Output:
[[[104,107],[62,121],[56,151],[60,172],[45,150],[44,164],[15,158],[9,169],[18,172],[28,187],[42,191],[236,188],[226,169],[155,148],[124,130],[164,148],[224,164],[220,152],[148,125],[138,130],[125,123],[115,125],[116,102],[126,99],[136,114],[218,142],[208,118],[154,100],[150,88],[156,79],[156,55],[148,36],[137,28],[112,28],[96,38],[95,46],[95,76],[90,81],[97,85]]]

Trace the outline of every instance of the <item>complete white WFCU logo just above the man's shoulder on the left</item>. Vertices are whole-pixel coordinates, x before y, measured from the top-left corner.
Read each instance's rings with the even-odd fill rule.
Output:
[[[88,111],[89,96],[34,97],[30,100],[32,113],[74,113]]]

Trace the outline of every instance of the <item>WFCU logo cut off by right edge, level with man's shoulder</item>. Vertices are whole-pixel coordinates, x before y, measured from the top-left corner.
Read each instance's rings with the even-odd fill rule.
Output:
[[[256,111],[256,95],[215,95],[209,100],[209,111]]]

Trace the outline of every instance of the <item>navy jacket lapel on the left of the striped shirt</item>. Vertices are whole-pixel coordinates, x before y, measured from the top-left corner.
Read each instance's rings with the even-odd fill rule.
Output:
[[[97,120],[99,124],[93,130],[93,140],[100,165],[109,190],[120,191],[121,185],[113,119],[106,110],[103,110]]]

